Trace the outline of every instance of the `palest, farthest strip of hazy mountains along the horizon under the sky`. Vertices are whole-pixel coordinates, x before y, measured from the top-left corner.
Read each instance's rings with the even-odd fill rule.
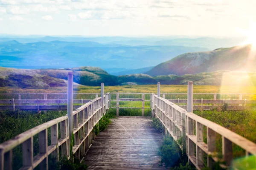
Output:
[[[188,36],[165,36],[165,37],[83,37],[83,36],[15,36],[0,35],[0,42],[17,40],[20,43],[32,42],[87,42],[93,41],[101,44],[119,44],[119,45],[150,45],[150,46],[198,46],[213,50],[219,47],[232,47],[240,45],[246,40],[246,37],[188,37]]]

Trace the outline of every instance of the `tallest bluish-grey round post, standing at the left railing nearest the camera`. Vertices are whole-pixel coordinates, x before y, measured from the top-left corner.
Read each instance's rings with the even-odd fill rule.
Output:
[[[67,116],[69,125],[69,136],[72,137],[73,132],[73,73],[68,73],[67,77]]]

